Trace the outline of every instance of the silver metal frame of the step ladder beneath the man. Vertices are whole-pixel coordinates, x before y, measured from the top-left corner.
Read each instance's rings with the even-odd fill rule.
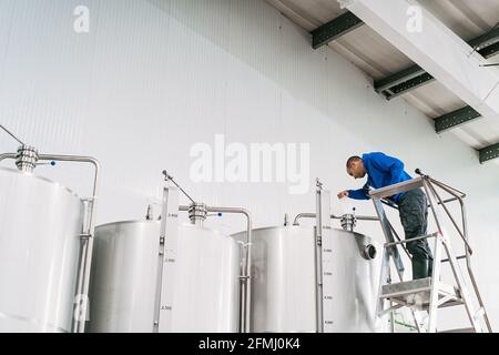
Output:
[[[472,250],[468,243],[468,235],[467,235],[467,225],[466,225],[466,213],[465,213],[465,206],[462,199],[465,197],[465,194],[460,191],[450,187],[446,184],[442,184],[434,179],[431,179],[428,175],[422,174],[419,169],[416,170],[416,173],[420,175],[418,180],[420,181],[420,185],[422,185],[422,189],[427,195],[429,207],[431,211],[431,214],[435,219],[435,224],[437,226],[437,232],[419,236],[410,240],[405,241],[398,241],[393,242],[393,236],[390,235],[390,230],[388,227],[388,220],[386,219],[385,212],[383,210],[383,205],[380,204],[380,200],[384,196],[393,194],[394,191],[400,192],[400,189],[403,185],[406,187],[411,186],[411,189],[417,189],[419,185],[415,186],[414,181],[408,181],[400,184],[395,184],[391,186],[386,186],[384,189],[377,190],[377,192],[371,193],[373,201],[375,204],[375,207],[378,212],[378,215],[380,217],[381,227],[385,233],[385,236],[389,241],[389,243],[385,244],[384,250],[384,263],[381,267],[381,277],[380,277],[380,286],[379,286],[379,302],[377,306],[377,314],[378,315],[385,315],[388,312],[393,312],[396,308],[399,308],[401,306],[409,306],[410,311],[413,313],[413,316],[415,318],[416,326],[418,328],[418,332],[429,332],[429,333],[436,333],[437,332],[437,311],[438,308],[445,307],[445,306],[456,306],[456,305],[465,305],[466,313],[468,315],[468,320],[470,321],[470,324],[472,325],[472,328],[477,333],[481,333],[485,331],[485,327],[482,327],[482,322],[487,326],[488,332],[492,332],[487,311],[485,308],[485,305],[482,303],[480,293],[478,291],[478,286],[476,284],[476,280],[473,276],[473,273],[471,271],[470,266],[470,255],[472,253]],[[461,207],[461,219],[462,219],[462,230],[459,227],[458,223],[451,215],[449,209],[447,209],[446,203],[455,201],[454,199],[444,201],[440,195],[437,192],[436,187],[440,187],[441,190],[446,191],[447,193],[451,194],[455,199],[457,199],[460,202]],[[379,193],[379,191],[383,190],[383,193]],[[437,207],[440,207],[447,215],[447,217],[450,220],[452,226],[457,231],[457,234],[460,236],[460,240],[465,244],[466,254],[465,257],[467,260],[467,272],[468,276],[471,278],[472,285],[473,285],[473,292],[475,296],[478,301],[479,308],[476,312],[475,311],[475,304],[471,300],[471,294],[468,291],[468,285],[464,275],[464,272],[458,264],[458,256],[455,255],[455,252],[452,250],[449,235],[447,234],[446,229],[442,224],[442,219],[440,216],[440,212]],[[399,284],[393,284],[390,285],[389,281],[387,278],[387,271],[389,268],[389,256],[393,256],[395,258],[395,255],[390,255],[387,253],[387,250],[395,250],[398,244],[405,244],[409,241],[414,240],[421,240],[421,239],[428,239],[434,237],[435,239],[435,247],[434,247],[434,260],[432,260],[432,274],[431,277],[425,278],[425,280],[416,280],[411,282],[401,282]],[[391,242],[390,242],[391,240]],[[447,258],[441,258],[441,253],[445,252],[447,254]],[[452,271],[454,275],[454,282],[456,283],[456,287],[446,287],[445,284],[440,282],[440,268],[441,263],[448,262],[450,265],[450,268]],[[399,275],[400,281],[403,281],[401,275]],[[426,283],[424,287],[421,287],[419,284]],[[444,286],[444,287],[442,287]],[[449,291],[450,290],[450,291]],[[415,312],[414,307],[414,300],[418,297],[419,301],[416,302],[416,308],[422,310],[426,308],[428,312],[428,324],[425,325],[422,322],[420,322],[420,317],[418,316],[418,312]],[[385,302],[383,298],[389,300],[390,307],[385,308]],[[411,300],[409,302],[409,298]],[[393,304],[396,304],[395,306]]]

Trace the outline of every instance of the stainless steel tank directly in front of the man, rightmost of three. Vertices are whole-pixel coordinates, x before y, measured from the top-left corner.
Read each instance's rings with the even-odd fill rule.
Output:
[[[245,234],[233,236],[244,240]],[[380,246],[343,230],[332,230],[332,236],[333,273],[325,277],[335,285],[333,331],[385,331],[385,323],[375,321]],[[254,230],[252,245],[252,332],[316,332],[314,229]]]

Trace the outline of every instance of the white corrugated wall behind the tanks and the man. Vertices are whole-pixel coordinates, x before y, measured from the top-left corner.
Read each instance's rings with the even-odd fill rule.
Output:
[[[90,32],[77,33],[78,6]],[[98,222],[140,219],[167,169],[197,200],[241,205],[256,226],[313,211],[314,179],[333,192],[360,186],[345,159],[365,151],[399,156],[466,191],[476,270],[499,321],[499,166],[403,100],[387,102],[358,69],[261,0],[0,0],[0,122],[42,152],[100,159]],[[284,183],[194,183],[194,143],[309,143],[309,192]],[[14,141],[0,135],[0,151]],[[90,169],[39,173],[89,195]],[[338,212],[342,206],[334,201]],[[369,202],[358,213],[374,214]],[[223,217],[230,231],[244,229]],[[377,225],[359,232],[381,240]]]

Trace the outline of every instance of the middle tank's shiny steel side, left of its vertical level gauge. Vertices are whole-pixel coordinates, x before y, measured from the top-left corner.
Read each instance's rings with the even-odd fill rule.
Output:
[[[90,332],[149,332],[157,268],[159,222],[98,226],[90,277]]]

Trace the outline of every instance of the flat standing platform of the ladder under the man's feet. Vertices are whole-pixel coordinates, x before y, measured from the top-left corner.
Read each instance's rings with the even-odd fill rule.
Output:
[[[456,287],[441,282],[437,283],[436,287],[439,307],[462,304],[459,291]],[[395,304],[413,305],[417,303],[421,307],[428,307],[430,293],[431,277],[426,277],[384,285],[380,298],[390,300]]]

